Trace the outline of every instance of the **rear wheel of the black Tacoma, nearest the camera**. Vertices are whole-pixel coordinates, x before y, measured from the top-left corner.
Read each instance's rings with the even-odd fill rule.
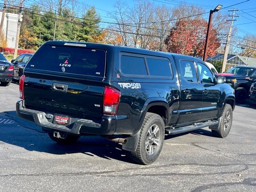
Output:
[[[159,128],[159,131],[157,127]],[[154,134],[154,131],[156,134]],[[158,145],[156,144],[157,142]],[[148,144],[147,147],[146,144]],[[139,164],[151,164],[160,155],[163,144],[164,121],[158,114],[148,112],[146,113],[146,116],[140,129],[140,137],[136,151],[130,152],[130,158]]]

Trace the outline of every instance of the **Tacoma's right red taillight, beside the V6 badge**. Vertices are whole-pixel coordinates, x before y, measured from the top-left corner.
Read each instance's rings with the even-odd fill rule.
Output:
[[[112,87],[105,87],[103,96],[103,112],[106,115],[115,115],[119,101],[120,101],[120,91]]]

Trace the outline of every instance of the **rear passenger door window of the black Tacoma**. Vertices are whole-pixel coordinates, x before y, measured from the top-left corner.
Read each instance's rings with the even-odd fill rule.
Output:
[[[193,61],[180,60],[181,76],[188,82],[198,82],[196,68]]]

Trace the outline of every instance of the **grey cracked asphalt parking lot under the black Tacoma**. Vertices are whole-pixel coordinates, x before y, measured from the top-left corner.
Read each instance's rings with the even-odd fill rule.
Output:
[[[18,84],[0,87],[0,191],[256,191],[256,108],[236,106],[227,138],[208,128],[166,136],[158,160],[133,164],[120,144],[61,145],[18,118]]]

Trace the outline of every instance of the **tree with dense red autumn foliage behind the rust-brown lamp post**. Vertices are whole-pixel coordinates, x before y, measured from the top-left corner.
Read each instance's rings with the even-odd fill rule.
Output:
[[[168,52],[203,56],[208,22],[204,19],[178,20],[165,40]],[[220,46],[216,30],[212,29],[208,56],[214,56]]]

